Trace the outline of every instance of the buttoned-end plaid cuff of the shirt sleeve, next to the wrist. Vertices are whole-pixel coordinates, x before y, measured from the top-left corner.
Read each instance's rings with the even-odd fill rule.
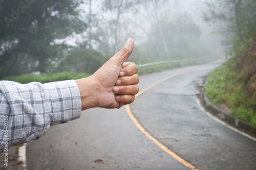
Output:
[[[81,98],[75,80],[46,83],[52,103],[51,126],[81,116]]]

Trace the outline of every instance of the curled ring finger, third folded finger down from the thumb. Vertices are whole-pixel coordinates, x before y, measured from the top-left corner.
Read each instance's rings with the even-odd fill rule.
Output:
[[[129,85],[129,86],[114,86],[113,92],[115,94],[130,94],[135,95],[139,92],[139,86]]]

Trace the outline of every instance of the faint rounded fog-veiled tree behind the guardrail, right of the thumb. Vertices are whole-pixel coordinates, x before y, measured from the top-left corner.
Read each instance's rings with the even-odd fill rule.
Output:
[[[166,41],[159,38],[161,37],[159,30],[162,30],[164,33]],[[200,41],[201,32],[195,23],[188,23],[179,34],[174,34],[176,31],[173,22],[160,21],[148,33],[152,41],[157,44],[159,51],[155,50],[151,40],[147,40],[141,44],[142,50],[147,56],[158,60],[199,58],[209,55],[207,47]]]

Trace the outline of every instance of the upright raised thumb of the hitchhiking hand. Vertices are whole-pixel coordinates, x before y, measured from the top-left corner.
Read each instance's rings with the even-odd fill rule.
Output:
[[[117,65],[122,65],[127,60],[127,58],[132,54],[133,46],[134,46],[133,39],[129,38],[125,46],[122,48],[122,50],[116,53],[111,58],[111,60],[115,62]]]

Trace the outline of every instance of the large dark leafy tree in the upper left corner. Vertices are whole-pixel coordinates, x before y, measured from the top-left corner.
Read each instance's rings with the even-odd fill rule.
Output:
[[[3,65],[13,65],[17,58],[24,56],[36,59],[34,64],[40,72],[54,64],[62,56],[62,50],[68,47],[65,42],[57,43],[56,40],[87,28],[77,10],[81,3],[80,0],[0,1],[0,17],[5,18],[0,21],[2,75]]]

